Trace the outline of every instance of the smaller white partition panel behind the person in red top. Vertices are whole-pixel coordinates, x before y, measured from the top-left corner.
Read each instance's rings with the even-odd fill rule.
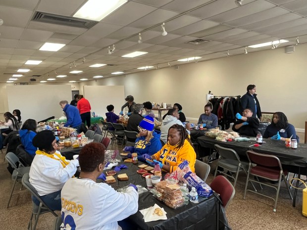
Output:
[[[124,86],[84,86],[84,97],[91,104],[91,112],[105,118],[106,106],[114,105],[114,113],[119,114],[125,101]]]

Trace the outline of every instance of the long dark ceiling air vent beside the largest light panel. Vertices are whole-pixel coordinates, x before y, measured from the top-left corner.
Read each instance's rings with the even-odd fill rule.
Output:
[[[98,22],[36,11],[32,21],[90,29]]]

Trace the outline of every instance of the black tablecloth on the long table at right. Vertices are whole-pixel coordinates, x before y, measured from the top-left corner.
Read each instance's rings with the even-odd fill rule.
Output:
[[[307,145],[298,143],[297,149],[286,148],[285,142],[280,140],[264,139],[265,143],[261,146],[255,147],[251,146],[255,144],[254,141],[227,141],[221,142],[215,138],[209,138],[203,136],[197,138],[196,143],[201,147],[214,148],[214,144],[218,144],[222,147],[232,148],[239,155],[246,157],[246,151],[252,150],[255,152],[266,153],[270,155],[275,155],[280,159],[280,162],[284,165],[292,165],[299,167],[307,167]],[[200,150],[199,150],[200,151]]]

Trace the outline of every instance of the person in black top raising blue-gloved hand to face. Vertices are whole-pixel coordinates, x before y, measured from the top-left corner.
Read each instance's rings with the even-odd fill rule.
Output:
[[[253,117],[252,109],[246,108],[242,112],[242,116],[237,113],[236,118],[238,119],[232,126],[232,130],[238,132],[240,135],[249,137],[256,137],[259,128],[259,119]]]

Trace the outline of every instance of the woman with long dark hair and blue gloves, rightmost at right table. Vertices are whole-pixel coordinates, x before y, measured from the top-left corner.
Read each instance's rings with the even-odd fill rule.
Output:
[[[296,131],[293,125],[288,123],[286,115],[282,112],[275,112],[272,117],[272,123],[266,127],[263,138],[271,138],[285,141],[286,138],[297,139]]]

